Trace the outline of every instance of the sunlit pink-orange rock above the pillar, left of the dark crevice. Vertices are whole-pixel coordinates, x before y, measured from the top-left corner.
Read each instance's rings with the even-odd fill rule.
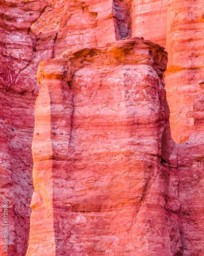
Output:
[[[121,39],[112,0],[55,1],[32,26],[37,34],[57,32],[55,56],[67,49],[101,47]]]

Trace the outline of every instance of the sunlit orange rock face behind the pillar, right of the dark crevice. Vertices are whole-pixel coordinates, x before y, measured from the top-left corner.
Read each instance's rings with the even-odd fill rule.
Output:
[[[193,131],[193,102],[203,79],[203,1],[147,0],[125,3],[131,36],[144,37],[166,47],[165,75],[173,140],[185,142]],[[120,9],[122,12],[122,8]],[[124,16],[123,12],[123,16]],[[119,16],[119,15],[118,15]]]

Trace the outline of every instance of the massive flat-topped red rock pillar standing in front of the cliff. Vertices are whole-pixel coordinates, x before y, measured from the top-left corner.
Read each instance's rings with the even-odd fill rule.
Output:
[[[40,63],[27,255],[183,252],[166,63],[139,38]]]

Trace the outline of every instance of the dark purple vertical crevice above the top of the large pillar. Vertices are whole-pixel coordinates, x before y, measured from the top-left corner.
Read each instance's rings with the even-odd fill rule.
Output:
[[[117,26],[121,39],[131,37],[131,17],[124,0],[113,0],[113,8],[116,13]]]

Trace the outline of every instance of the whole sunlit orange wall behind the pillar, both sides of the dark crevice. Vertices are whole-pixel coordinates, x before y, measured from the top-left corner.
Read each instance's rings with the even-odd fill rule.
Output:
[[[185,142],[193,130],[193,102],[203,79],[203,1],[51,1],[33,31],[57,31],[55,56],[75,47],[101,47],[143,37],[168,52],[165,73],[173,140]],[[105,8],[104,8],[105,7]],[[49,21],[49,23],[48,23]]]

